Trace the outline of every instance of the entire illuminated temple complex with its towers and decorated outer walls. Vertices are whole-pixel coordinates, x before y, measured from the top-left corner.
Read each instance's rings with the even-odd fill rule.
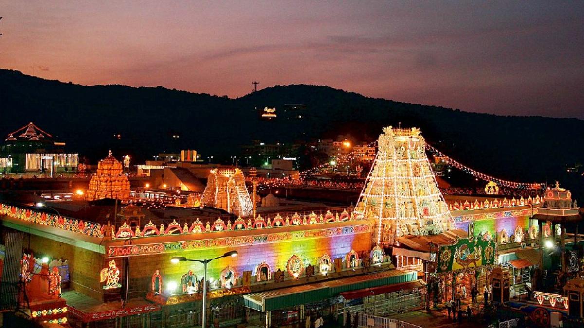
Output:
[[[569,191],[550,188],[544,201],[444,197],[425,148],[418,129],[385,128],[354,209],[319,204],[306,210],[317,203],[281,198],[285,204],[258,212],[241,169],[200,168],[210,174],[199,207],[200,193],[176,185],[137,187],[131,196],[122,164],[110,152],[89,182],[87,200],[47,207],[0,201],[6,265],[26,275],[32,264],[20,261],[23,256],[35,263],[62,259],[47,260],[43,272],[53,278],[58,272],[67,284],[60,297],[67,322],[79,327],[200,324],[205,276],[209,319],[268,328],[298,324],[310,311],[343,324],[348,312],[381,316],[429,308],[430,298],[443,302],[463,287],[482,290],[501,277],[537,280],[531,269],[555,255],[535,245],[555,238],[571,256],[562,265],[580,271],[578,230],[572,245],[564,240],[565,225],[581,218]],[[142,186],[152,183],[141,179]],[[248,187],[257,183],[252,177]],[[135,196],[146,192],[168,201],[148,207]],[[124,201],[120,207],[93,201],[100,198]],[[232,251],[238,256],[223,256]],[[205,272],[194,261],[172,263],[175,256],[214,260]],[[543,302],[548,294],[542,295]],[[58,314],[54,319],[63,321]]]

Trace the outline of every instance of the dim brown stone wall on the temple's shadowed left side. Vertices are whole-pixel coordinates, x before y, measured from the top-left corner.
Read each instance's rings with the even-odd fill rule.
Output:
[[[102,299],[99,271],[105,267],[105,255],[37,235],[28,235],[35,256],[51,259],[64,257],[69,264],[71,288],[95,299]]]

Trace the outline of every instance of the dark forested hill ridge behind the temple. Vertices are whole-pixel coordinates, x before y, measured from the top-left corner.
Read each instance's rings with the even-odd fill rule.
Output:
[[[453,158],[503,179],[566,180],[565,165],[584,162],[582,120],[467,113],[328,86],[274,86],[228,99],[162,87],[82,86],[0,69],[0,102],[0,135],[34,121],[91,160],[109,148],[142,160],[181,148],[237,155],[252,139],[292,142],[347,133],[373,139],[381,127],[401,122],[420,127]],[[287,103],[305,104],[306,116],[263,121],[255,109],[274,106],[280,114]]]

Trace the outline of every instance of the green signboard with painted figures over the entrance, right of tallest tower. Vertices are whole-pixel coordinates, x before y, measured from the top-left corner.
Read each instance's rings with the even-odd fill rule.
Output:
[[[460,238],[454,245],[440,246],[436,272],[456,271],[495,263],[495,240]]]

